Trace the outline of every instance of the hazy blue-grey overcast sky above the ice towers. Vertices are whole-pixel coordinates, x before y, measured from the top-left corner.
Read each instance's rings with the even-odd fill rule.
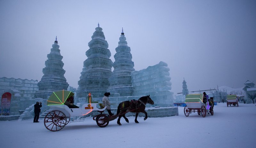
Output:
[[[166,62],[174,94],[256,82],[253,0],[0,0],[0,77],[39,82],[57,35],[77,88],[98,22],[113,62],[123,27],[135,70]]]

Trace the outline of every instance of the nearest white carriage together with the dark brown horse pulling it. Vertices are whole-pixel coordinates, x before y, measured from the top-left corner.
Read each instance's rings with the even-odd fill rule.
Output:
[[[138,101],[140,103],[137,104],[144,104],[140,105],[138,108],[131,108],[130,106],[126,107],[126,104],[124,102],[119,104],[119,112],[117,115],[109,116],[108,114],[104,114],[103,112],[107,108],[106,106],[98,108],[98,103],[91,103],[91,99],[89,100],[89,103],[85,103],[82,105],[81,108],[69,108],[66,104],[66,101],[69,97],[73,97],[74,93],[72,91],[67,90],[60,90],[53,92],[52,95],[48,98],[46,101],[47,105],[52,109],[49,113],[46,114],[44,118],[44,126],[46,129],[50,131],[59,131],[65,127],[70,121],[71,117],[77,117],[77,116],[84,116],[92,111],[98,111],[100,114],[93,117],[93,120],[96,121],[97,125],[101,128],[106,127],[109,123],[109,121],[115,120],[118,118],[118,125],[121,125],[120,118],[124,117],[125,121],[129,123],[128,119],[125,117],[125,113],[133,112],[136,113],[135,122],[137,121],[137,116],[139,112],[145,113],[146,117],[144,120],[146,120],[147,113],[145,112],[145,106],[147,103],[154,104],[154,102],[151,100],[149,96],[141,97]],[[129,101],[128,101],[129,102]],[[143,109],[144,107],[144,109]],[[138,121],[136,123],[139,123]]]

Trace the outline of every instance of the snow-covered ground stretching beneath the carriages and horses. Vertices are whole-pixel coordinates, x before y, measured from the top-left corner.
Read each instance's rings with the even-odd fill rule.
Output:
[[[184,107],[179,116],[164,118],[128,117],[130,123],[121,119],[100,128],[92,117],[84,122],[68,123],[63,129],[52,132],[44,127],[44,121],[0,121],[1,148],[251,148],[255,147],[256,106],[239,104],[227,107],[224,103],[214,106],[214,115],[192,113],[186,117]]]

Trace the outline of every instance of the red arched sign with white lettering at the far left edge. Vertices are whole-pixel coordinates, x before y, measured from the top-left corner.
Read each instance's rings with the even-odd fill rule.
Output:
[[[2,95],[0,115],[3,115],[3,116],[10,115],[11,97],[12,97],[12,94],[10,92],[6,92]]]

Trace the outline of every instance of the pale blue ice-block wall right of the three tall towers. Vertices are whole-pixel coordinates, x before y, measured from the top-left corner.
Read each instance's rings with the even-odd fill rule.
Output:
[[[170,69],[167,66],[167,63],[161,61],[147,69],[132,72],[133,96],[150,95],[155,106],[173,106]]]

